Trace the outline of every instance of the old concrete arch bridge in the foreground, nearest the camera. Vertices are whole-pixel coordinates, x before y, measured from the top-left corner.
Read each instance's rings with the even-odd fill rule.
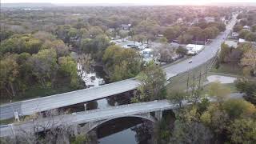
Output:
[[[230,94],[229,98],[242,98],[243,94]],[[215,102],[214,98],[209,98],[210,102]],[[182,101],[183,106],[188,106],[192,102]],[[167,100],[140,102],[122,106],[113,106],[106,109],[88,110],[74,114],[63,114],[40,118],[37,121],[27,121],[0,126],[0,137],[14,136],[16,134],[31,134],[54,127],[73,126],[77,130],[79,124],[86,124],[86,132],[104,122],[115,118],[136,117],[144,118],[151,122],[161,120],[163,110],[175,110],[179,108],[178,103],[171,103]]]

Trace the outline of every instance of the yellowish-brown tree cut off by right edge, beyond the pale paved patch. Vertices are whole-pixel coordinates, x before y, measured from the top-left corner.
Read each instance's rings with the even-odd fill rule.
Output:
[[[253,76],[256,75],[256,50],[250,49],[243,54],[241,65],[249,68]]]

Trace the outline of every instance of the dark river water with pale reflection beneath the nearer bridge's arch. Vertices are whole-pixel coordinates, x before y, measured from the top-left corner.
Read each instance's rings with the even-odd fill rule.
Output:
[[[101,144],[149,144],[153,123],[142,118],[117,118],[95,130]]]

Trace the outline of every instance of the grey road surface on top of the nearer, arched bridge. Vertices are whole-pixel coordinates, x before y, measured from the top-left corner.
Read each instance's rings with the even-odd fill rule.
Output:
[[[242,98],[242,94],[230,94],[229,98]],[[210,98],[210,102],[214,101],[214,98]],[[190,105],[191,102],[183,101],[182,104],[183,106],[187,106]],[[49,129],[51,126],[71,126],[74,124],[95,122],[105,119],[121,118],[135,114],[146,114],[158,110],[170,110],[175,108],[178,108],[177,103],[170,103],[169,101],[162,100],[153,102],[134,103],[122,106],[113,106],[106,109],[88,110],[76,114],[65,114],[61,116],[55,116],[54,118],[44,118],[42,119],[42,121],[36,122],[37,125],[34,125],[34,122],[24,122],[0,126],[0,137],[19,134],[20,130],[33,132],[34,126],[43,126],[46,129]],[[38,129],[38,131],[41,130],[42,129]]]

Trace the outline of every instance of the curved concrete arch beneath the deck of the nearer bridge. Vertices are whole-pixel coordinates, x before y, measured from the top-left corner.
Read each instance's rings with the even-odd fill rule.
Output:
[[[117,117],[117,118],[142,118],[142,119],[146,119],[150,122],[156,122],[156,119],[153,116],[151,116],[150,114],[127,115],[127,116],[122,116],[122,117]],[[91,130],[94,130],[98,126],[101,126],[103,123],[110,122],[114,119],[116,119],[116,118],[109,118],[109,119],[105,119],[105,120],[98,121],[98,122],[89,122],[86,124],[86,133],[90,132]]]

